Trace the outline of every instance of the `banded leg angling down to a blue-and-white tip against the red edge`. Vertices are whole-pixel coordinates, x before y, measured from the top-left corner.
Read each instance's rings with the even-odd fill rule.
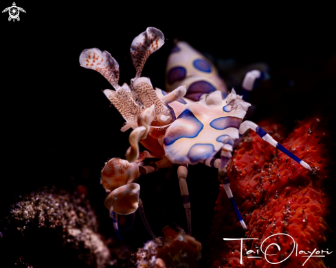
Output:
[[[231,188],[229,188],[229,179],[227,178],[226,165],[230,158],[232,158],[231,151],[232,145],[225,144],[223,146],[221,151],[221,165],[219,165],[219,182],[223,186],[227,197],[229,197],[229,201],[234,208],[234,212],[236,212],[236,216],[238,217],[241,226],[244,228],[244,230],[247,230],[246,224],[240,215],[236,202],[234,201],[234,195],[232,195]]]

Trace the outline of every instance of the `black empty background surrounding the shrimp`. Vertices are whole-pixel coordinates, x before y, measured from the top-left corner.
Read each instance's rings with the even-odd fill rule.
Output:
[[[2,1],[0,9],[11,3]],[[21,21],[8,22],[8,12],[0,16],[0,217],[15,195],[43,185],[69,191],[84,185],[102,232],[113,235],[100,171],[109,158],[124,158],[129,132],[120,132],[124,120],[101,92],[111,85],[99,73],[81,68],[78,58],[83,49],[107,50],[120,64],[120,84],[129,83],[135,75],[131,42],[146,27],[157,27],[166,37],[142,73],[153,86],[164,89],[166,59],[178,38],[215,58],[232,58],[239,66],[269,64],[272,81],[251,99],[257,105],[255,121],[280,114],[279,120],[292,127],[324,103],[333,106],[335,21],[328,6],[16,5],[27,12],[20,13]],[[139,181],[148,222],[157,235],[169,221],[186,228],[176,168],[171,172],[170,177],[161,171]],[[188,184],[194,236],[205,246],[218,193],[216,171],[191,167]],[[135,249],[150,239],[138,214],[133,229],[122,235]]]

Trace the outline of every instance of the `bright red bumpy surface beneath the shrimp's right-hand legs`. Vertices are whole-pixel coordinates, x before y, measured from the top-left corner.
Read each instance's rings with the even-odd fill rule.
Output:
[[[262,141],[256,133],[249,132],[243,138],[227,173],[248,230],[246,233],[241,230],[221,188],[210,234],[209,267],[275,267],[274,263],[282,260],[278,264],[281,267],[302,267],[307,260],[303,256],[307,254],[300,254],[301,250],[312,252],[316,248],[326,251],[331,233],[328,223],[331,221],[333,165],[331,131],[327,129],[327,124],[326,118],[311,117],[300,121],[284,138],[281,125],[269,125],[267,121],[260,123],[284,147],[307,162],[313,168],[312,173]],[[280,233],[282,235],[267,239]],[[243,241],[243,252],[240,252],[240,241],[223,241],[223,238],[258,240]],[[277,243],[281,248],[278,250],[276,245],[271,245],[267,249],[267,254],[274,254],[267,256],[269,262],[260,252],[263,241],[263,252],[271,243]],[[295,243],[298,244],[298,253]],[[248,250],[254,250],[254,253],[247,254]],[[240,254],[243,254],[243,264],[240,264]],[[328,254],[324,255],[325,258],[309,258],[304,267],[326,267],[324,259],[328,258]]]

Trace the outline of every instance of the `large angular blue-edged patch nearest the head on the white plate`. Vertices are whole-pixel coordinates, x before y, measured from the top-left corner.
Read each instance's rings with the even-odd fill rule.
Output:
[[[172,127],[170,126],[170,131],[166,134],[164,138],[164,145],[172,145],[175,141],[179,140],[180,138],[195,138],[203,130],[204,125],[197,119],[194,114],[189,110],[184,110],[179,117],[179,119],[184,119],[183,123],[188,124],[188,126],[192,126],[192,130],[183,130],[182,127]]]

